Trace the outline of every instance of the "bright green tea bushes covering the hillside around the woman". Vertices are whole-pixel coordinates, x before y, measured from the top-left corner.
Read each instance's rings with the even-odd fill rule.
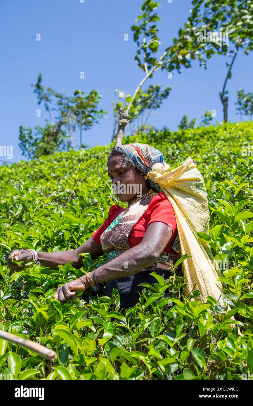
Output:
[[[74,249],[119,202],[106,170],[113,144],[1,166],[0,328],[52,348],[58,358],[52,363],[0,339],[0,373],[50,380],[240,380],[253,373],[252,130],[252,122],[232,123],[123,140],[160,149],[171,169],[191,156],[203,174],[210,233],[200,237],[223,264],[223,306],[210,296],[190,302],[182,276],[164,281],[155,273],[157,283],[143,283],[139,303],[125,314],[117,291],[112,298],[100,289],[65,304],[54,300],[58,285],[93,270],[104,256],[84,255],[79,270],[67,263],[9,274],[14,248]],[[171,295],[162,297],[167,287]]]

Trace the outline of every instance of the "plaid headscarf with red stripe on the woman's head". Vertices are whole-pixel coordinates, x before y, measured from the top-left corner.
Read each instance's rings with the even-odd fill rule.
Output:
[[[134,164],[141,165],[143,174],[147,175],[154,164],[164,164],[164,156],[159,149],[151,147],[147,144],[125,144],[120,146],[121,149],[128,155]],[[149,185],[154,192],[160,192],[160,186],[148,179]]]

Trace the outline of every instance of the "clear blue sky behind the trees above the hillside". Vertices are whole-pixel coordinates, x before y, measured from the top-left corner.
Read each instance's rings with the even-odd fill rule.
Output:
[[[129,0],[1,0],[0,2],[0,67],[1,119],[0,145],[13,145],[12,162],[25,159],[18,147],[19,125],[43,125],[47,113],[36,116],[37,99],[30,84],[35,84],[39,71],[43,85],[67,95],[76,89],[89,93],[97,89],[102,95],[99,108],[107,111],[107,118],[83,133],[83,142],[95,146],[108,144],[112,137],[112,106],[115,89],[133,93],[143,78],[134,55],[136,45],[131,25],[139,15],[142,1]],[[189,16],[191,2],[167,0],[159,2],[158,21],[160,52],[172,43],[177,31]],[[41,41],[36,41],[36,35]],[[128,41],[124,41],[124,34]],[[160,56],[160,53],[159,55]],[[193,61],[190,69],[182,68],[181,75],[173,73],[168,79],[166,71],[158,71],[149,84],[171,86],[172,91],[162,107],[149,119],[149,124],[170,130],[184,114],[197,123],[206,110],[216,110],[215,120],[223,119],[219,99],[228,58],[215,55],[208,60],[205,70]],[[236,58],[233,75],[228,82],[229,121],[240,121],[236,115],[236,92],[239,88],[252,91],[253,53],[246,56],[242,50]],[[80,71],[85,78],[80,79]],[[126,131],[128,133],[128,131]],[[78,144],[77,142],[74,144]],[[0,157],[1,159],[6,159]]]

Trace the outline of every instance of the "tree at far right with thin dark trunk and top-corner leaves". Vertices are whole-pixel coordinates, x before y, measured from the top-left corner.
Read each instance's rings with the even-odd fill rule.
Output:
[[[228,119],[228,91],[226,91],[227,80],[231,78],[232,67],[240,48],[244,49],[247,55],[253,49],[253,0],[195,0],[195,9],[199,10],[199,15],[195,23],[206,24],[206,42],[212,41],[218,54],[225,54],[232,57],[231,63],[226,63],[228,71],[223,84],[223,89],[219,93],[223,104],[223,120]],[[229,50],[229,41],[234,45],[234,50]]]

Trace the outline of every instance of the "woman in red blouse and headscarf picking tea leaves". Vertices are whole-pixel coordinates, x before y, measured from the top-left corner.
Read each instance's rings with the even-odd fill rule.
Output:
[[[74,298],[77,291],[106,282],[108,296],[113,288],[118,289],[122,309],[134,306],[143,289],[138,285],[155,283],[150,275],[153,271],[168,279],[172,274],[169,269],[174,268],[180,255],[172,205],[159,185],[147,179],[147,173],[158,162],[164,164],[162,153],[146,144],[113,148],[108,157],[108,176],[119,200],[128,202],[128,207],[111,206],[105,222],[74,251],[12,251],[8,258],[11,270],[17,270],[12,260],[39,261],[42,266],[56,269],[72,261],[73,267],[80,268],[80,253],[89,253],[92,259],[106,253],[108,262],[95,274],[89,272],[58,287],[55,298],[65,302]],[[176,268],[177,274],[180,268]]]

